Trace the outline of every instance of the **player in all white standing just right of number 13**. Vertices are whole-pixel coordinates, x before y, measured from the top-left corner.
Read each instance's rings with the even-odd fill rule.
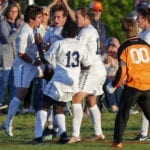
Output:
[[[93,61],[89,72],[82,72],[79,86],[80,92],[73,96],[72,109],[72,137],[68,143],[81,141],[80,126],[83,118],[82,101],[86,99],[89,108],[94,134],[88,138],[89,141],[104,140],[101,128],[101,114],[97,106],[97,96],[103,94],[103,85],[106,79],[106,69],[101,60],[99,35],[97,30],[91,25],[91,12],[86,8],[78,8],[76,11],[76,23],[81,30],[78,39],[83,42],[90,53]]]

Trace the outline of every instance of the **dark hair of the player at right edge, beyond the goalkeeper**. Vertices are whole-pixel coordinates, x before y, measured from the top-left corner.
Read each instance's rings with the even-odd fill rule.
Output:
[[[150,8],[142,7],[137,9],[137,12],[139,15],[143,16],[144,18],[147,18],[148,22],[150,23]]]

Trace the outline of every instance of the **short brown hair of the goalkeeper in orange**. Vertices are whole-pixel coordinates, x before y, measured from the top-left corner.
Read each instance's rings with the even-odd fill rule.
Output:
[[[128,38],[136,37],[138,34],[138,27],[136,20],[133,18],[122,18],[120,19],[122,31]]]

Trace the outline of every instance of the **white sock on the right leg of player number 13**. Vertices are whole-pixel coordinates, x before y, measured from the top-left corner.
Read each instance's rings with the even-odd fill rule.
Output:
[[[56,114],[54,115],[54,120],[56,121],[56,124],[59,128],[59,135],[61,135],[63,132],[66,132],[66,122],[65,122],[65,115],[64,114]]]

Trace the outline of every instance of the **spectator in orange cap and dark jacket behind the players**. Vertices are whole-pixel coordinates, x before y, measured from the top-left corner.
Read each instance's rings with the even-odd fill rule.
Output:
[[[101,21],[101,15],[103,12],[102,3],[99,0],[94,0],[90,3],[90,10],[94,14],[94,20],[92,21],[92,25],[97,29],[100,37],[100,49],[101,53],[105,52],[105,42],[106,42],[106,30],[103,22]]]

